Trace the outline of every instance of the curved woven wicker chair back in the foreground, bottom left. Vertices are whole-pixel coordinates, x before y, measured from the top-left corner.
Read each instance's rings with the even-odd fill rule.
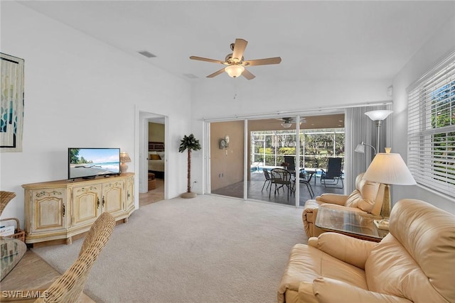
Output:
[[[80,248],[77,260],[66,272],[55,280],[47,290],[30,290],[23,292],[35,292],[41,297],[33,302],[77,302],[84,290],[85,282],[95,260],[105,247],[112,231],[114,230],[115,219],[112,214],[102,213],[85,237]],[[8,300],[7,300],[8,301]],[[16,302],[16,300],[14,300]],[[30,302],[30,299],[23,299],[21,302]]]

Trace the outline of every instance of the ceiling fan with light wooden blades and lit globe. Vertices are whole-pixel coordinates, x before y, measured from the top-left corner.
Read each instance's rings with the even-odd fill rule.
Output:
[[[232,78],[237,78],[240,75],[243,77],[251,80],[254,79],[256,76],[253,75],[251,72],[247,71],[245,67],[247,66],[255,66],[255,65],[270,65],[270,64],[279,64],[282,62],[281,57],[270,57],[264,59],[256,59],[256,60],[244,60],[243,53],[245,52],[245,48],[247,47],[248,41],[243,40],[240,38],[235,39],[235,43],[231,43],[230,49],[232,50],[231,54],[228,54],[225,57],[224,61],[221,60],[213,60],[204,57],[196,57],[191,56],[191,60],[199,60],[205,62],[213,62],[213,63],[220,63],[222,65],[228,65],[223,67],[218,72],[214,72],[213,74],[208,75],[208,78],[213,78],[222,74],[223,72],[227,72],[228,75]]]

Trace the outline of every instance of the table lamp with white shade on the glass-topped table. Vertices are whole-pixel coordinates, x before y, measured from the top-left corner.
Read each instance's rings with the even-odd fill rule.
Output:
[[[387,224],[390,217],[390,185],[417,184],[407,168],[405,161],[399,153],[390,153],[390,148],[385,148],[385,153],[377,153],[371,162],[363,179],[385,184],[384,201],[382,203],[382,224]]]

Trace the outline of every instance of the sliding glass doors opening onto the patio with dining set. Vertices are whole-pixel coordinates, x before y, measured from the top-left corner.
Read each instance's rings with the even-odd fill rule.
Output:
[[[344,128],[338,125],[343,117],[210,123],[210,192],[292,206],[323,192],[342,194],[320,180],[328,158],[344,158]]]

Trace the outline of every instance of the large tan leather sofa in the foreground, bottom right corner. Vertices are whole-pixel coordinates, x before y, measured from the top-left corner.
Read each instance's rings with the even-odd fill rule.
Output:
[[[455,215],[402,199],[374,243],[322,233],[292,248],[278,302],[455,302]]]

